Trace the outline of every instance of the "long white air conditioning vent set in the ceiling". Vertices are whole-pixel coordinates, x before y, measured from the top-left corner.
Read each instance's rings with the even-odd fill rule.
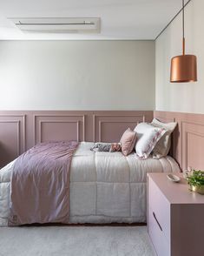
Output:
[[[100,33],[99,17],[11,17],[19,30],[37,33]]]

